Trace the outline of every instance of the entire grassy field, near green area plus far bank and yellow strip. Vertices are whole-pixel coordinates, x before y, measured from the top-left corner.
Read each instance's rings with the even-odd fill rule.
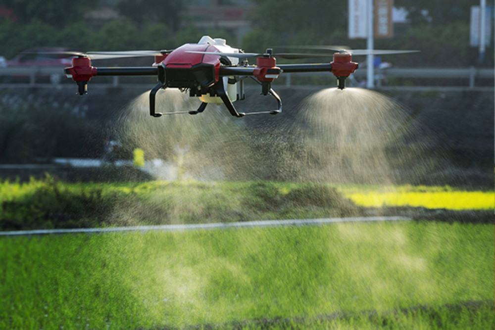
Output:
[[[493,191],[271,182],[47,179],[4,182],[0,196],[3,230],[494,208]],[[1,237],[0,329],[494,329],[494,229],[409,221]]]

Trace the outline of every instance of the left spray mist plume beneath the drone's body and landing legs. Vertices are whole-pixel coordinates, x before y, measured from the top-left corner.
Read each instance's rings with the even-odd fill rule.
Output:
[[[158,179],[225,179],[239,161],[235,155],[243,154],[244,139],[233,119],[215,104],[208,104],[198,115],[153,118],[148,96],[146,92],[136,97],[117,121],[114,130],[122,144],[128,150],[143,149],[147,160],[160,160],[152,169]],[[198,106],[197,98],[177,89],[156,95],[157,112],[196,110]],[[170,166],[175,175],[167,175]]]

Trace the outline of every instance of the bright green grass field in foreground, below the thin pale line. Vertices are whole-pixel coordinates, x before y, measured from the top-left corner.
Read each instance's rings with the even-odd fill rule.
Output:
[[[0,239],[0,329],[494,329],[494,226]]]

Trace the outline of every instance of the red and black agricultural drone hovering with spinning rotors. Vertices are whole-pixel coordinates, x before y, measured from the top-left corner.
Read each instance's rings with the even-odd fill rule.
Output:
[[[156,76],[158,84],[149,92],[149,114],[153,117],[162,115],[203,112],[208,103],[225,104],[230,114],[243,117],[247,114],[278,114],[282,111],[282,100],[271,88],[271,83],[281,73],[294,72],[331,72],[337,77],[337,87],[346,87],[346,78],[353,73],[358,63],[352,62],[352,54],[364,55],[366,51],[336,49],[335,47],[308,47],[326,50],[327,53],[274,53],[267,49],[265,53],[247,53],[230,47],[223,39],[203,36],[197,44],[185,44],[173,50],[133,50],[103,52],[64,52],[72,58],[72,66],[65,68],[68,78],[78,86],[80,95],[88,91],[88,82],[96,76]],[[320,64],[279,64],[276,57],[287,59],[330,57],[333,61]],[[411,51],[375,50],[373,54],[392,54]],[[91,59],[154,56],[154,63],[149,67],[94,67]],[[248,58],[256,57],[256,64],[249,65]],[[263,95],[272,95],[278,102],[275,110],[258,112],[238,112],[232,102],[245,99],[244,79],[251,78],[261,85]],[[197,110],[180,112],[155,112],[155,95],[160,89],[178,88],[189,92],[191,97],[201,101]]]

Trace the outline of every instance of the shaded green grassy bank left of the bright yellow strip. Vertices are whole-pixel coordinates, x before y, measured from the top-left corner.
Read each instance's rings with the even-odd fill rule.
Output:
[[[0,184],[0,229],[342,217],[360,208],[336,189],[270,182],[66,184],[51,177]]]

